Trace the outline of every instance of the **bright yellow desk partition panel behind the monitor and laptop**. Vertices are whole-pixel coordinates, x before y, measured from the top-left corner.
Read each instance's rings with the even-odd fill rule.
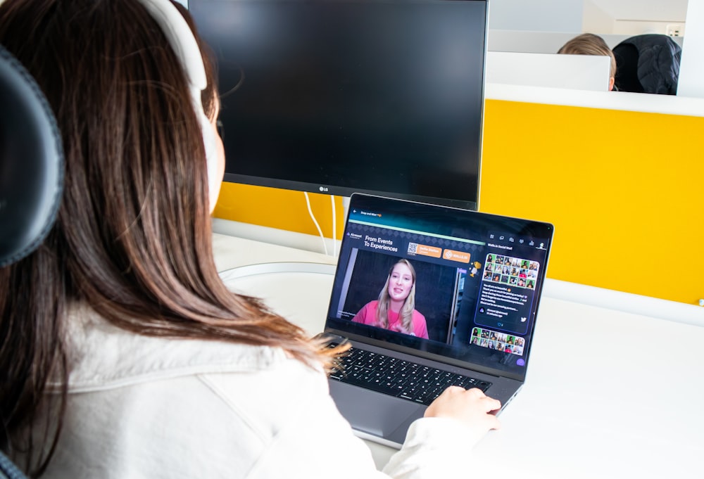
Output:
[[[555,224],[551,278],[696,304],[703,139],[701,117],[487,100],[479,207]],[[329,197],[310,200],[332,237]],[[318,234],[300,192],[226,183],[215,216]]]

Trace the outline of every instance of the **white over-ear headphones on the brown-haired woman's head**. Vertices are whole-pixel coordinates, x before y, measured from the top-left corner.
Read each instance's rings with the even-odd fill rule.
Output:
[[[208,79],[198,42],[188,23],[170,0],[139,0],[139,3],[149,11],[152,18],[159,24],[171,44],[171,48],[181,60],[181,65],[186,73],[191,92],[191,103],[193,103],[193,108],[196,110],[201,124],[203,146],[206,148],[208,192],[210,193],[208,197],[210,198],[210,211],[213,211],[215,203],[218,201],[218,196],[214,192],[220,191],[222,178],[218,177],[218,148],[215,132],[201,102],[201,91],[208,86]]]

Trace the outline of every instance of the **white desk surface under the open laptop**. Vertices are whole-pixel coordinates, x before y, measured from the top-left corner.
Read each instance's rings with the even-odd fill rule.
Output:
[[[318,253],[218,234],[214,245],[220,271],[258,262],[334,264]],[[228,284],[311,334],[322,331],[329,274],[256,274]],[[704,327],[543,295],[526,385],[501,414],[503,428],[474,449],[467,471],[482,478],[704,477],[702,350]],[[377,465],[394,452],[370,447]]]

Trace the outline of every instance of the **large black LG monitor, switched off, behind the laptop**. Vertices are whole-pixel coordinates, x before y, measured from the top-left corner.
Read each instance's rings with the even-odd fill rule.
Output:
[[[486,0],[189,0],[225,181],[477,209]]]

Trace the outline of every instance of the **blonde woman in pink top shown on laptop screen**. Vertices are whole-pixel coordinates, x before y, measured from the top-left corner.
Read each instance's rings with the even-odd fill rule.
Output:
[[[425,316],[415,310],[415,269],[398,260],[386,278],[379,300],[367,302],[352,321],[428,338]]]

